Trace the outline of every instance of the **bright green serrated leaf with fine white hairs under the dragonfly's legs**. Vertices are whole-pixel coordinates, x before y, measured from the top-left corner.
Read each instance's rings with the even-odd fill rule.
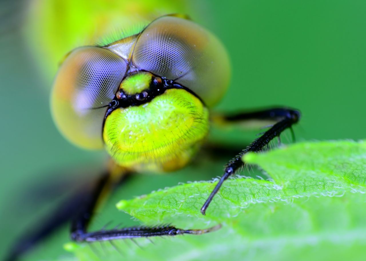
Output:
[[[174,238],[115,241],[126,260],[364,260],[366,143],[304,142],[244,156],[268,180],[224,182],[206,216],[199,212],[215,182],[193,182],[122,200],[117,208],[145,224],[219,231]],[[108,243],[70,247],[81,260],[120,260]],[[98,254],[101,251],[104,254]]]

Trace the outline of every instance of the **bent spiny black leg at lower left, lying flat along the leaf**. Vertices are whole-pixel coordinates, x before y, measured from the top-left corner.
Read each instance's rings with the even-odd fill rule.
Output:
[[[71,239],[77,242],[96,242],[111,241],[115,239],[141,238],[141,237],[157,237],[157,236],[175,236],[182,234],[203,234],[220,228],[219,226],[201,230],[183,230],[173,226],[156,226],[156,227],[127,227],[122,229],[100,230],[88,232],[87,227],[93,216],[94,209],[100,197],[109,190],[111,182],[109,176],[106,175],[100,179],[93,194],[89,200],[82,205],[78,215],[75,216],[71,224]]]

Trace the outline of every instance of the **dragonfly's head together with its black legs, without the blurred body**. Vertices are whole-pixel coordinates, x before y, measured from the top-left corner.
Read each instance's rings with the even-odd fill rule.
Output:
[[[292,131],[300,112],[288,107],[213,113],[230,77],[223,43],[179,14],[161,16],[139,33],[107,45],[82,46],[69,52],[53,83],[53,119],[72,144],[87,150],[104,149],[112,164],[83,200],[73,204],[72,211],[65,214],[63,209],[51,221],[52,226],[21,241],[8,260],[15,260],[26,251],[25,245],[49,234],[71,212],[71,239],[77,242],[203,234],[218,229],[220,226],[184,230],[169,225],[89,231],[88,227],[100,198],[121,184],[127,174],[183,168],[205,144],[212,125],[275,122],[225,165],[221,178],[197,210],[202,215],[223,182],[245,165],[244,154],[261,151],[286,129]]]

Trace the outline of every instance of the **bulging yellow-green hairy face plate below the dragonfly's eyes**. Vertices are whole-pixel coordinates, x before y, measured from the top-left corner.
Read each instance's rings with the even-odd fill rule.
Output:
[[[137,88],[141,85],[135,80],[131,83]],[[109,154],[124,167],[179,169],[207,135],[208,116],[208,109],[197,97],[172,88],[143,105],[113,110],[105,120],[103,139]]]

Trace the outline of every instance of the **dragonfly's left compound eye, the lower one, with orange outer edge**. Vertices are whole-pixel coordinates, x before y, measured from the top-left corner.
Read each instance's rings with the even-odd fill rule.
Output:
[[[77,48],[66,57],[53,83],[51,109],[60,132],[72,143],[103,147],[104,115],[127,65],[117,54],[93,46]]]

